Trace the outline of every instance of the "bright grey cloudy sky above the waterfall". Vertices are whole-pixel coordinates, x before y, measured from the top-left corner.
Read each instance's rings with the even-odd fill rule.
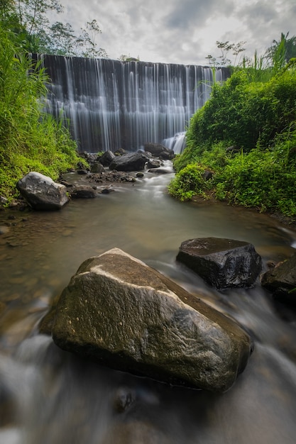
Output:
[[[263,54],[280,34],[296,35],[295,0],[60,0],[57,20],[78,33],[97,20],[96,43],[112,59],[207,65],[219,57],[216,41],[246,42],[245,54]]]

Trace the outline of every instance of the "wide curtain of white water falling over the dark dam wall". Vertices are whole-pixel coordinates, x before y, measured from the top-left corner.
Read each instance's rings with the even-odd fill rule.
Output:
[[[212,69],[57,55],[41,57],[51,83],[46,111],[70,124],[80,151],[171,145],[211,92]],[[229,77],[216,70],[216,81]]]

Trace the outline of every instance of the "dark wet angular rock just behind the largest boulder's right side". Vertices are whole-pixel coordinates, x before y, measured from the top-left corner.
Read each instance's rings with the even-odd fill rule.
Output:
[[[176,259],[217,289],[252,287],[261,272],[260,255],[251,243],[241,240],[185,240]]]

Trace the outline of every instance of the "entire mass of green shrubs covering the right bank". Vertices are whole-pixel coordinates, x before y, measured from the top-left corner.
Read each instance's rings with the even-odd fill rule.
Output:
[[[204,194],[193,178],[187,189],[188,171],[198,165],[214,171],[207,195],[296,215],[295,60],[267,82],[253,82],[246,70],[237,70],[223,85],[215,84],[186,138],[187,148],[174,162],[170,194],[181,200]]]

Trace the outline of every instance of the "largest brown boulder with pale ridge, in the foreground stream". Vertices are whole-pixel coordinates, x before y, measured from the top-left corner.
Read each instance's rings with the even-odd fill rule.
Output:
[[[188,387],[224,392],[251,353],[234,321],[118,248],[83,262],[49,317],[60,348]]]

